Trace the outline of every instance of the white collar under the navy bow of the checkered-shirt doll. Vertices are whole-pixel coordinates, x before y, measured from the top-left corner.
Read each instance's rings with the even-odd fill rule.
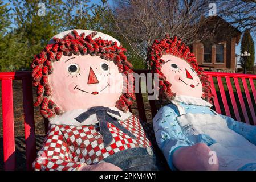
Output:
[[[124,113],[123,111],[117,109],[116,107],[109,107],[109,109],[119,112],[120,116],[107,112],[109,115],[116,118],[117,120],[124,121],[124,120],[128,119],[129,117],[131,117],[131,115],[132,115],[132,113],[130,113],[129,111],[127,113]],[[87,111],[87,109],[76,109],[76,110],[67,111],[67,112],[63,113],[62,115],[56,115],[55,117],[51,118],[50,124],[82,126],[82,125],[95,125],[95,124],[99,123],[99,121],[97,120],[96,114],[90,115],[90,117],[88,117],[86,119],[86,121],[84,121],[82,123],[80,123],[80,122],[76,121],[76,119],[74,119],[74,118],[78,117],[81,113],[86,112],[86,111]]]

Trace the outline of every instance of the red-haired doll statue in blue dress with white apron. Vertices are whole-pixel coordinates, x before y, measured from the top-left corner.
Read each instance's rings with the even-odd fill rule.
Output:
[[[170,169],[256,170],[256,126],[210,109],[208,76],[189,48],[166,35],[155,40],[148,55],[159,74],[162,105],[153,126]]]

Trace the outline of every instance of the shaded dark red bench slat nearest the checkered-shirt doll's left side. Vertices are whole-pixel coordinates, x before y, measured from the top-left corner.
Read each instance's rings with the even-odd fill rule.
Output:
[[[23,110],[24,110],[24,127],[26,143],[27,170],[32,170],[32,162],[36,158],[35,145],[35,119],[33,109],[32,80],[26,78],[22,80],[23,92]]]

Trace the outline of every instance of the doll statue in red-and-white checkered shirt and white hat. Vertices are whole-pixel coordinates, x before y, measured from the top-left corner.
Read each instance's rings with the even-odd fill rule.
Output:
[[[135,97],[122,90],[133,71],[119,44],[100,32],[70,30],[35,56],[35,105],[50,121],[35,170],[159,169],[139,119],[128,111]]]

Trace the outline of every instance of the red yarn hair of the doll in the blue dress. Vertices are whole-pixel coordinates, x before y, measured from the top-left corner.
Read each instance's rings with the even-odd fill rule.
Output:
[[[196,57],[190,52],[188,46],[181,42],[176,36],[170,38],[166,35],[164,39],[155,40],[148,48],[147,61],[151,67],[152,73],[159,74],[159,103],[167,104],[176,96],[172,92],[172,84],[166,80],[164,73],[161,72],[162,64],[165,63],[161,59],[162,55],[173,55],[185,60],[197,72],[202,83],[202,98],[208,102],[212,102],[213,94],[210,91],[210,81],[201,67],[198,67]]]

